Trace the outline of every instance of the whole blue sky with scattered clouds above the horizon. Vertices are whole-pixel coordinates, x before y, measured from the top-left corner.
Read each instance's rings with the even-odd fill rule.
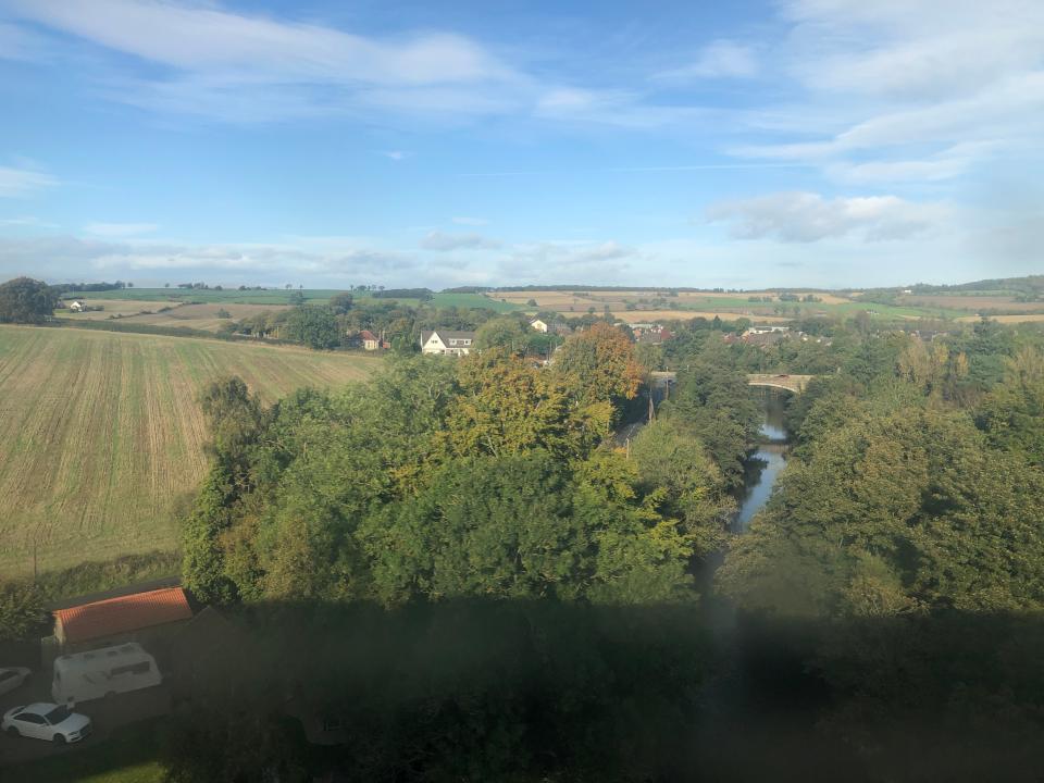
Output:
[[[0,0],[0,279],[1044,272],[1044,2]]]

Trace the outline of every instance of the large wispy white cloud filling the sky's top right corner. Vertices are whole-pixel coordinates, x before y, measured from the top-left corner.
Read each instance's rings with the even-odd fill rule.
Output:
[[[939,182],[1044,136],[1044,4],[781,8],[787,73],[806,98],[784,112],[783,138],[736,154],[815,162],[849,182]]]

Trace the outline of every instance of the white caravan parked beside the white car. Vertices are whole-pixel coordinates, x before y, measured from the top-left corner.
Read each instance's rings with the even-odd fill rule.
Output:
[[[128,642],[55,658],[51,696],[58,704],[79,704],[161,682],[156,658],[137,642]]]

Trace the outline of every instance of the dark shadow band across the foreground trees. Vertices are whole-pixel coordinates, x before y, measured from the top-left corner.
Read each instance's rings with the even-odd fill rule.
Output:
[[[1044,623],[269,602],[183,651],[175,781],[1040,780]]]

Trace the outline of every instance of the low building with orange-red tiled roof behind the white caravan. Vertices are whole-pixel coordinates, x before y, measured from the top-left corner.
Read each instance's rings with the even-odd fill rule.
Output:
[[[181,587],[108,598],[54,612],[54,638],[65,650],[166,636],[191,620]]]

